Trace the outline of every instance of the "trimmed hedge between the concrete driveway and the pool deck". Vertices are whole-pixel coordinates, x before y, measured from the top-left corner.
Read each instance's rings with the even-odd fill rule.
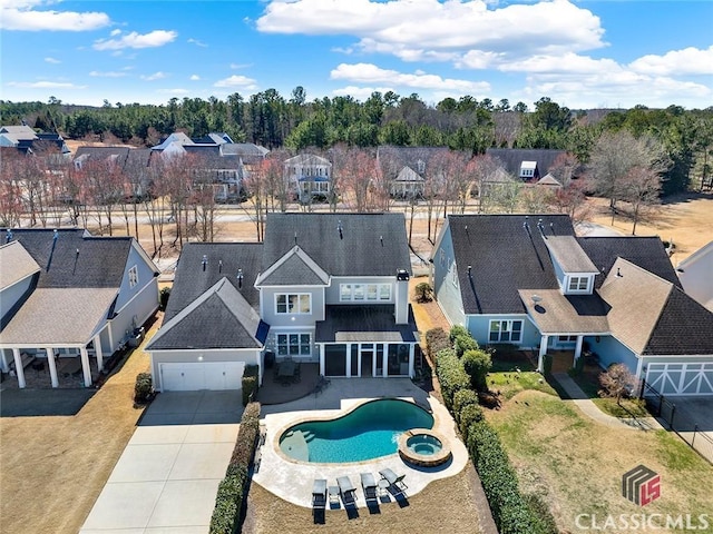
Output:
[[[250,484],[250,464],[260,435],[260,403],[250,403],[243,412],[233,456],[218,485],[215,508],[211,517],[211,534],[234,534],[241,531],[241,511]]]

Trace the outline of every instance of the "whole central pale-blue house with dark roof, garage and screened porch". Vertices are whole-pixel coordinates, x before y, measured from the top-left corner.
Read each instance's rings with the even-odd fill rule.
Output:
[[[398,214],[268,214],[262,244],[191,244],[146,348],[155,387],[240,388],[267,352],[325,376],[412,376],[410,273]]]

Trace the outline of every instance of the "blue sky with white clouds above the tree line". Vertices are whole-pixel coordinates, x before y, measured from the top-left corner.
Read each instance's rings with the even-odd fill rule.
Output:
[[[713,106],[713,1],[0,0],[0,99]]]

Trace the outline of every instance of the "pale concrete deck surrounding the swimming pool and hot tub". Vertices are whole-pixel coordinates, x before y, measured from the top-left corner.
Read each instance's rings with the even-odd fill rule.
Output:
[[[313,464],[291,461],[280,452],[277,439],[289,426],[309,418],[339,417],[363,402],[383,397],[430,406],[436,419],[433,429],[448,441],[452,458],[439,467],[424,468],[407,465],[398,453],[368,462]],[[260,447],[260,467],[253,475],[253,482],[299,506],[312,506],[312,483],[315,478],[325,478],[328,486],[332,486],[336,485],[336,477],[349,476],[358,487],[356,505],[365,506],[360,473],[372,473],[379,479],[379,471],[390,467],[397,474],[406,474],[403,482],[408,486],[408,497],[423,491],[432,481],[460,473],[468,464],[468,451],[457,436],[456,423],[446,407],[409,378],[332,378],[330,386],[319,396],[309,395],[285,404],[263,406],[261,424],[265,426],[266,436]],[[382,502],[385,498],[394,500],[388,496]]]

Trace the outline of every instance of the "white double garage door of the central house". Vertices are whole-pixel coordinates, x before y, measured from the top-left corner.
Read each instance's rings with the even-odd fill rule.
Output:
[[[160,364],[160,384],[164,392],[240,389],[244,369],[244,362]]]

